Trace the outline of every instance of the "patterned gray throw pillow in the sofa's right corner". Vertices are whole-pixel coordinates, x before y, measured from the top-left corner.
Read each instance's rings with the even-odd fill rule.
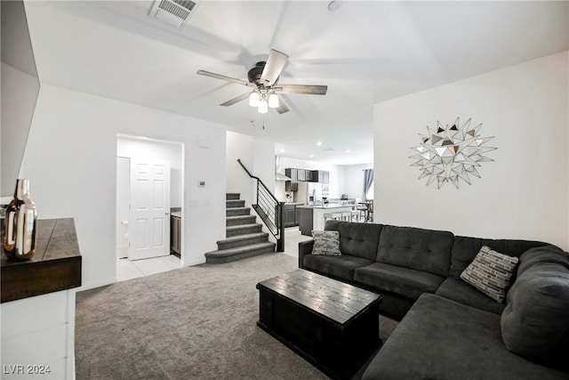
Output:
[[[517,257],[502,255],[484,246],[474,261],[462,271],[461,279],[493,300],[504,303],[517,261]]]

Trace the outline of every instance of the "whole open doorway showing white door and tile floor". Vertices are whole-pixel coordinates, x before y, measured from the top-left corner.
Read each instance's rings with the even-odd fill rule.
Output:
[[[180,268],[170,218],[182,208],[183,144],[120,134],[116,152],[116,279]]]

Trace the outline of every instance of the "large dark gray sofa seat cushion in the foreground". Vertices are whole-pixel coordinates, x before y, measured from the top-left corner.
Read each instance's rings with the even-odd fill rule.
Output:
[[[419,300],[365,369],[363,379],[566,379],[509,352],[500,316],[438,295]]]

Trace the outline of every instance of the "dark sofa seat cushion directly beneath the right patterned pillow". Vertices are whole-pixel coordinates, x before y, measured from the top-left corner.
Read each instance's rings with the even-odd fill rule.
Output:
[[[452,277],[445,279],[435,294],[480,310],[491,311],[494,314],[501,314],[506,307],[506,303],[497,303],[481,293],[476,287]]]

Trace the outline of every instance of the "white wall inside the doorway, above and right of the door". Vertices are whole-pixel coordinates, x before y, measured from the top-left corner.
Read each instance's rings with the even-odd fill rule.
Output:
[[[170,206],[181,207],[182,193],[182,145],[180,142],[148,141],[134,137],[118,136],[116,156],[126,158],[147,158],[170,164]]]

